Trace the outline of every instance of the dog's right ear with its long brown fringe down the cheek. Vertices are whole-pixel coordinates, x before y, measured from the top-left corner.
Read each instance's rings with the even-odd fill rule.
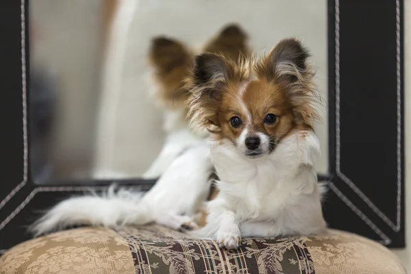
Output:
[[[259,79],[278,84],[286,90],[292,103],[297,125],[314,127],[319,115],[315,104],[319,101],[314,85],[314,73],[308,64],[310,53],[295,38],[281,40],[255,66]]]

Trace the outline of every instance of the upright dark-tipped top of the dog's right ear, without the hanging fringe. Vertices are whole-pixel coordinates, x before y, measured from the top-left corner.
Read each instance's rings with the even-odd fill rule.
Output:
[[[299,40],[286,38],[256,64],[256,74],[259,78],[288,86],[310,77],[307,74],[309,57],[310,53]]]

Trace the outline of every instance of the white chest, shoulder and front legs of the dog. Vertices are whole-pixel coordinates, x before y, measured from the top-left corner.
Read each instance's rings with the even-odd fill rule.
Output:
[[[236,249],[241,236],[323,232],[321,190],[313,166],[319,153],[319,139],[311,131],[294,132],[273,153],[255,159],[228,140],[215,142],[211,156],[220,192],[207,203],[206,226],[192,235]]]

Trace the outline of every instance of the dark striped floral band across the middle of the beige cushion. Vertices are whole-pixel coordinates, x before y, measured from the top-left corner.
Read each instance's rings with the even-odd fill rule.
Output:
[[[137,273],[315,273],[307,238],[245,239],[238,251],[227,251],[155,225],[119,234]]]

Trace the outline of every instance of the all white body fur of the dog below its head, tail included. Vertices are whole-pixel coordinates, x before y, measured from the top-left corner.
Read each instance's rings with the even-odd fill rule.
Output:
[[[36,234],[71,225],[143,225],[195,228],[195,216],[206,201],[212,163],[219,175],[219,195],[206,204],[207,225],[192,236],[217,240],[236,249],[241,237],[317,234],[325,229],[321,186],[313,163],[319,140],[313,132],[295,132],[275,151],[247,158],[229,141],[206,141],[187,149],[158,182],[141,192],[110,188],[104,195],[74,197],[58,203],[32,227]]]

